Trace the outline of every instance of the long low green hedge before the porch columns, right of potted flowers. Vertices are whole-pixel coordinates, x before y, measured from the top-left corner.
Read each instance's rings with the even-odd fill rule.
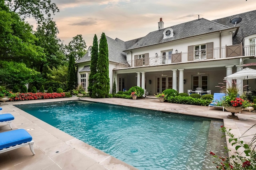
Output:
[[[212,102],[212,100],[209,99],[204,100],[200,98],[191,98],[190,96],[170,96],[167,98],[167,101],[169,103],[190,104],[198,106],[208,106]]]

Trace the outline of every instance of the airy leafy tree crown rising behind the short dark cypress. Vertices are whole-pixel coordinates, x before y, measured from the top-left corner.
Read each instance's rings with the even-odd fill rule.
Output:
[[[86,54],[86,43],[82,35],[76,35],[72,41],[66,45],[68,55],[73,55],[75,62],[81,59]]]

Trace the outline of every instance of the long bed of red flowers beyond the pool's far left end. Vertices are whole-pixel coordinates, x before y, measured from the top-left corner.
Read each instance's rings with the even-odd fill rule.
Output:
[[[65,98],[65,93],[16,93],[15,97],[8,101],[24,101],[24,100],[38,100],[38,99],[54,99]]]

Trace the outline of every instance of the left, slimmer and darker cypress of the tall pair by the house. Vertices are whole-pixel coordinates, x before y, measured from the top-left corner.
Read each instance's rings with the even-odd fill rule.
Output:
[[[97,35],[94,35],[91,51],[91,64],[90,64],[90,74],[89,74],[89,85],[88,92],[90,97],[92,96],[92,87],[94,83],[94,75],[97,73],[97,62],[98,62],[98,38]]]

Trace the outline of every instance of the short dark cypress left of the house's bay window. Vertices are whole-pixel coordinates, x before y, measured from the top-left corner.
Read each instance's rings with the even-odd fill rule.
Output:
[[[75,69],[75,59],[74,55],[69,55],[69,62],[68,62],[68,82],[67,82],[67,91],[73,90],[76,88],[77,84],[77,77],[76,77],[76,69]]]

